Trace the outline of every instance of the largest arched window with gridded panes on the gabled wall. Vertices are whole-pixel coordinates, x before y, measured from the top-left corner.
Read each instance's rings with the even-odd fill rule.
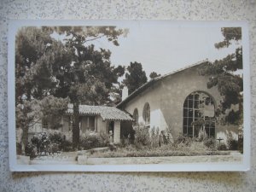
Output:
[[[196,91],[183,104],[183,135],[198,137],[199,132],[215,137],[214,103],[212,97]]]

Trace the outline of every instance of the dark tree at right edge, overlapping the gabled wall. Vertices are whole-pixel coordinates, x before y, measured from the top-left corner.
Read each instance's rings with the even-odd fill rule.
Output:
[[[241,41],[241,27],[224,27],[221,29],[224,40],[215,44],[217,49],[229,47],[230,44]],[[242,69],[242,47],[238,46],[236,52],[227,55],[222,60],[217,60],[212,65],[207,65],[201,69],[202,75],[209,75],[211,78],[207,82],[207,87],[218,87],[218,91],[224,96],[224,101],[218,108],[217,115],[224,114],[231,105],[239,105],[239,110],[231,110],[225,121],[231,124],[240,125],[242,123],[242,77],[238,73]]]

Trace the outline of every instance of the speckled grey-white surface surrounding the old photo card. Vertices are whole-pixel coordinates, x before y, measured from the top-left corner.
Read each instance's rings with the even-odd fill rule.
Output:
[[[256,1],[0,0],[0,191],[256,191]],[[9,172],[7,27],[9,19],[247,20],[251,61],[249,172]]]

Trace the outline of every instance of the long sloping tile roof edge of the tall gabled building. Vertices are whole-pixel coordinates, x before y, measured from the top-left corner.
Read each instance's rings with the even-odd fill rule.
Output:
[[[183,68],[180,68],[176,71],[173,71],[171,73],[166,73],[164,75],[161,75],[160,77],[157,77],[157,78],[154,78],[154,79],[151,79],[150,81],[148,81],[147,83],[143,84],[142,86],[140,86],[139,88],[137,88],[137,90],[134,90],[129,96],[127,96],[125,98],[124,101],[122,102],[119,102],[117,104],[117,108],[122,108],[123,105],[125,105],[127,102],[130,102],[135,96],[137,96],[138,94],[142,93],[144,90],[146,90],[149,86],[151,86],[152,84],[154,84],[155,82],[158,82],[160,81],[161,79],[165,79],[166,77],[169,77],[175,73],[179,73],[179,72],[182,72],[188,68],[191,68],[191,67],[197,67],[197,66],[200,66],[202,64],[208,64],[210,63],[207,59],[206,60],[203,60],[203,61],[199,61],[199,62],[196,62],[195,64],[192,64],[192,65],[189,65],[187,67],[183,67]]]

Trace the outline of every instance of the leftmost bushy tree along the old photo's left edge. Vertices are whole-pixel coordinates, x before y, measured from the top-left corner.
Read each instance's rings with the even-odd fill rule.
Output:
[[[38,27],[21,27],[15,43],[16,127],[22,129],[21,141],[24,149],[28,142],[28,128],[43,118],[46,113],[42,111],[48,110],[48,116],[54,117],[56,110],[61,109],[59,112],[64,113],[67,109],[67,99],[55,98],[55,102],[65,106],[60,108],[58,105],[45,105],[47,102],[44,102],[44,98],[55,91],[55,65],[58,62],[68,62],[68,55],[66,52],[61,54],[65,47],[51,38],[49,32]],[[56,48],[59,48],[58,51],[54,51]]]

